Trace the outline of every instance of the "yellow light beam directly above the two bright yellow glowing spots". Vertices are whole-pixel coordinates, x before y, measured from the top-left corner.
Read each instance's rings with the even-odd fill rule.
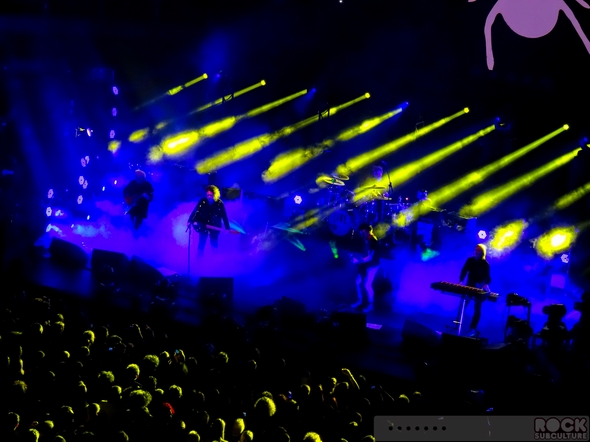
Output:
[[[464,217],[480,216],[515,193],[532,186],[536,181],[553,172],[555,169],[566,165],[576,157],[579,150],[576,149],[568,152],[532,172],[527,172],[506,184],[482,193],[471,204],[463,206],[459,214]]]

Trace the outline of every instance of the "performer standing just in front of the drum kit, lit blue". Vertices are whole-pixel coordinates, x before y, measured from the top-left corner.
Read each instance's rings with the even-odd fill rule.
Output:
[[[370,224],[363,223],[359,225],[358,230],[365,240],[365,250],[361,258],[353,258],[352,260],[358,268],[358,276],[356,278],[358,299],[351,307],[357,308],[362,305],[364,288],[367,292],[368,305],[363,311],[368,313],[373,310],[373,301],[375,297],[373,281],[375,281],[375,276],[377,276],[377,271],[379,270],[379,240],[373,235],[373,227]]]

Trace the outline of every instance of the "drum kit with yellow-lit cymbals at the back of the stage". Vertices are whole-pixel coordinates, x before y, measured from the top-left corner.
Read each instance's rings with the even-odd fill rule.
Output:
[[[326,175],[318,180],[324,187],[318,192],[321,195],[317,205],[328,209],[324,222],[336,236],[349,235],[362,223],[393,225],[397,215],[408,207],[401,198],[400,201],[389,198],[385,186],[379,185],[359,189],[363,197],[356,199],[355,193],[346,189],[348,180],[349,177],[342,175]]]

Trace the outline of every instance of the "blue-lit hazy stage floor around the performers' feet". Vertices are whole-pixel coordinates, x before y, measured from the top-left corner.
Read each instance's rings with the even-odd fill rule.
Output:
[[[35,243],[41,258],[31,267],[32,278],[42,286],[81,297],[93,296],[95,288],[89,266],[79,271],[66,270],[48,257],[52,239],[58,238],[78,246],[89,257],[95,249],[119,252],[129,258],[141,258],[164,275],[173,275],[182,286],[174,319],[187,324],[202,319],[197,301],[201,278],[233,279],[231,313],[237,320],[245,320],[258,309],[277,305],[284,298],[317,318],[329,317],[334,312],[361,313],[350,308],[356,300],[356,269],[348,259],[355,243],[350,238],[325,232],[292,234],[270,227],[257,234],[223,235],[216,253],[207,246],[205,256],[197,257],[197,235],[189,236],[184,222],[185,212],[191,207],[188,203],[163,218],[152,216],[138,232],[114,216],[95,222],[54,224]],[[404,323],[411,319],[439,336],[450,332],[459,298],[433,290],[430,284],[457,282],[465,259],[473,253],[475,242],[468,238],[449,237],[446,241],[439,255],[426,261],[405,242],[394,247],[391,259],[382,260],[376,308],[366,315],[369,346],[348,355],[345,352],[343,363],[350,360],[368,370],[404,378],[413,376],[412,363],[396,350],[402,341]],[[577,322],[579,313],[573,310],[573,303],[582,291],[569,281],[563,287],[553,287],[554,275],[528,255],[490,257],[489,261],[491,288],[500,297],[495,303],[483,304],[479,330],[488,344],[504,342],[509,314],[526,318],[524,308],[506,306],[508,293],[518,293],[531,301],[531,326],[535,332],[546,321],[543,306],[550,304],[566,306],[564,321],[568,329]],[[125,297],[115,298],[114,302],[129,309],[141,306],[137,299]],[[465,321],[470,320],[471,314],[469,306]],[[464,330],[467,331],[466,327]]]

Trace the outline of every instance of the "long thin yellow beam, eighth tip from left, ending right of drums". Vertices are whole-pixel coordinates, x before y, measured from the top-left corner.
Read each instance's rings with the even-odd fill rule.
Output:
[[[509,164],[523,157],[527,153],[531,152],[533,149],[536,149],[543,143],[549,141],[551,138],[559,135],[565,130],[565,127],[560,127],[559,129],[554,130],[553,132],[545,135],[544,137],[539,138],[538,140],[533,141],[532,143],[527,144],[526,146],[521,147],[520,149],[508,155],[505,155],[499,160],[494,161],[493,163],[488,164],[487,166],[484,166],[478,170],[470,172],[467,175],[462,176],[458,180],[453,181],[452,183],[447,184],[446,186],[430,193],[428,197],[432,202],[432,206],[441,207],[443,204],[457,197],[466,190],[471,189],[473,186],[481,183],[490,175],[508,166]],[[412,206],[412,219],[416,219],[418,216],[423,215],[424,211],[428,210],[428,207],[423,204]]]

